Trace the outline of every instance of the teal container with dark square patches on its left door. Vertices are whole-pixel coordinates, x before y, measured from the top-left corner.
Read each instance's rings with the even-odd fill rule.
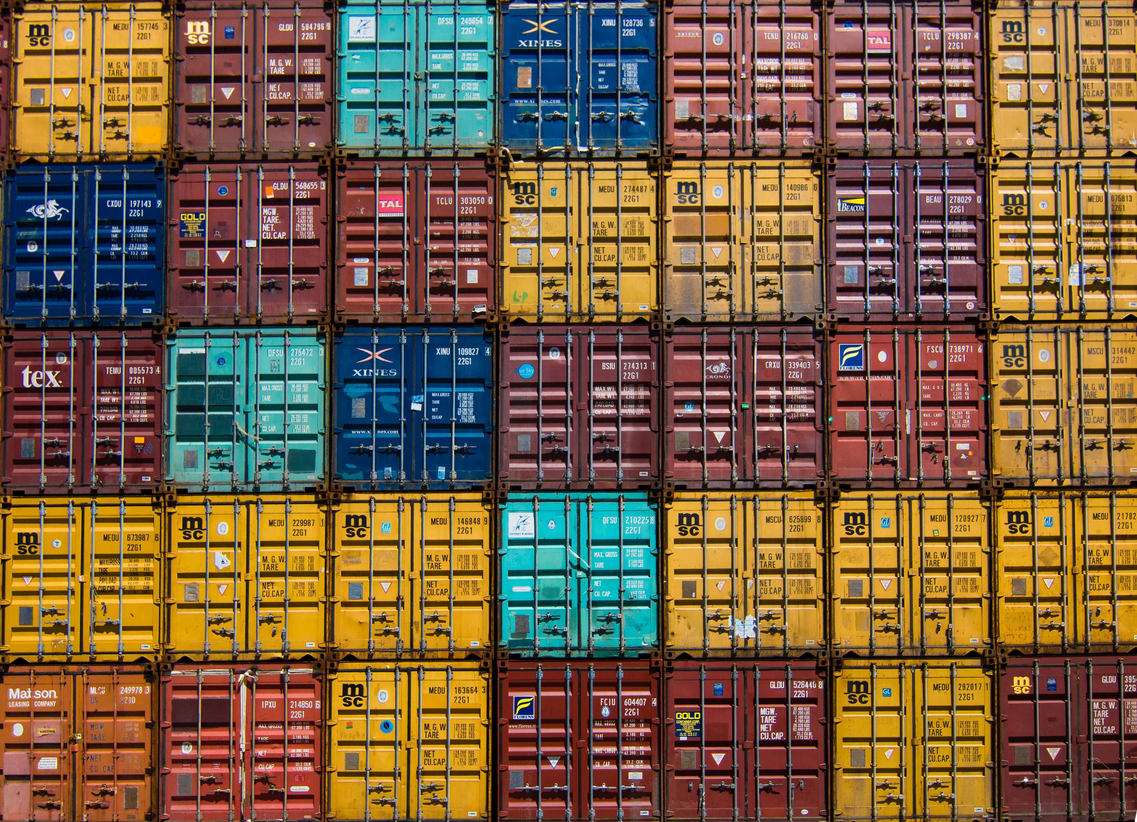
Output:
[[[191,491],[324,483],[323,332],[183,329],[166,338],[166,481]]]

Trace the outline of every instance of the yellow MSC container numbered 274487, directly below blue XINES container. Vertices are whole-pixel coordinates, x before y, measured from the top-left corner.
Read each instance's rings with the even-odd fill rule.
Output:
[[[503,173],[506,321],[628,322],[658,312],[656,177],[637,163],[530,163]]]

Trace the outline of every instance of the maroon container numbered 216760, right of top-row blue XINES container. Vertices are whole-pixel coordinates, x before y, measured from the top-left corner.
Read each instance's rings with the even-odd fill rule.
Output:
[[[821,149],[816,6],[680,1],[665,14],[664,139],[677,153]]]

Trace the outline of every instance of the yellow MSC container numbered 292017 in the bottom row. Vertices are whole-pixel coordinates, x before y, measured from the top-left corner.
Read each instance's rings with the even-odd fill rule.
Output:
[[[995,819],[995,676],[981,661],[846,659],[830,688],[840,819]]]

